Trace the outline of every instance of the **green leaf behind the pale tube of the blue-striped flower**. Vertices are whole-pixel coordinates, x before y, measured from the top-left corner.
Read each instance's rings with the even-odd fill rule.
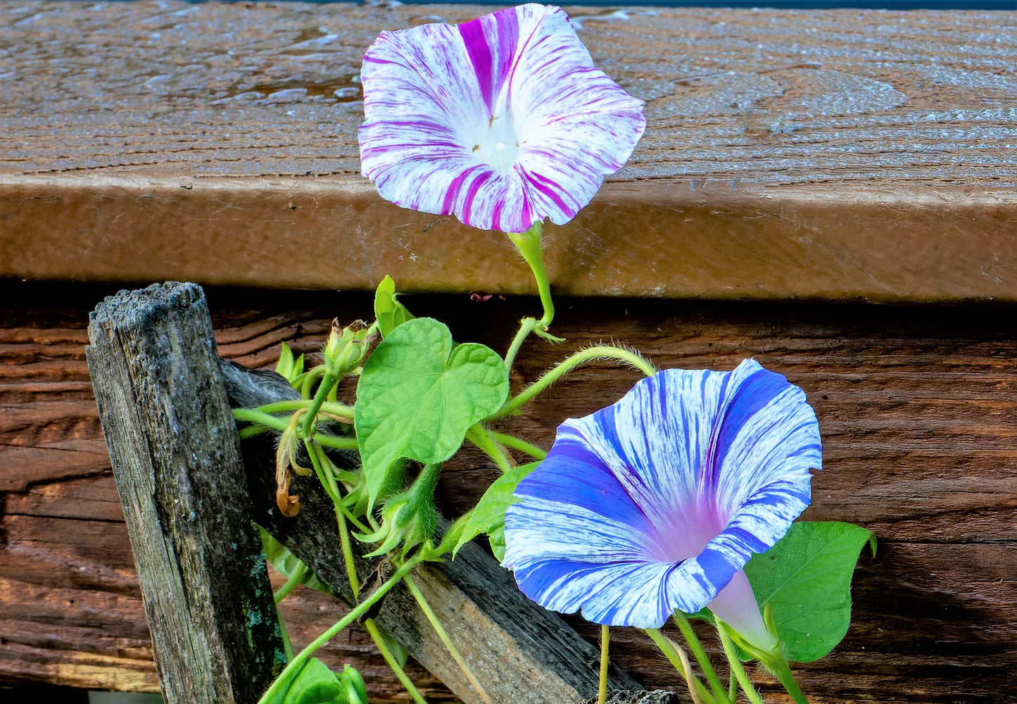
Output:
[[[812,662],[833,650],[851,622],[851,575],[873,533],[850,523],[800,522],[745,565],[760,608],[773,609],[784,655]]]

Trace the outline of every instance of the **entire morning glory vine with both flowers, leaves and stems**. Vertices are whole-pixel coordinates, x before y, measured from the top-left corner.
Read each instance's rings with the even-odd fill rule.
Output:
[[[421,563],[455,559],[481,535],[531,599],[601,625],[600,702],[609,628],[633,627],[674,664],[694,702],[733,704],[740,691],[761,704],[741,665],[755,659],[804,703],[789,661],[821,657],[843,638],[851,573],[871,539],[848,524],[793,523],[811,500],[811,470],[822,467],[804,392],[753,360],[727,372],[658,371],[637,351],[596,346],[511,393],[510,372],[531,334],[563,342],[550,332],[543,225],[567,223],[624,165],[646,127],[642,101],[593,65],[560,8],[539,4],[456,26],[383,32],[364,55],[361,81],[363,175],[398,206],[505,233],[530,266],[542,310],[520,321],[500,355],[453,340],[439,320],[415,317],[385,277],[375,319],[335,322],[320,364],[305,369],[304,357],[284,345],[277,371],[300,400],[235,412],[243,436],[279,436],[277,503],[285,516],[300,511],[293,474],[315,475],[332,498],[359,600],[299,653],[286,639],[289,664],[260,704],[366,704],[356,670],[332,672],[313,653],[400,582],[489,702],[411,575]],[[549,451],[492,427],[596,359],[646,378],[615,404],[565,420]],[[338,398],[349,376],[357,379],[353,403]],[[441,533],[437,479],[466,443],[501,476]],[[337,464],[337,450],[356,453],[359,468]],[[395,566],[363,598],[355,541]],[[327,589],[267,534],[264,543],[288,578],[277,601],[298,584]],[[807,625],[799,623],[803,612]],[[726,684],[691,620],[716,629]],[[684,646],[660,631],[668,621]],[[405,651],[371,619],[364,626],[423,704],[403,669]]]

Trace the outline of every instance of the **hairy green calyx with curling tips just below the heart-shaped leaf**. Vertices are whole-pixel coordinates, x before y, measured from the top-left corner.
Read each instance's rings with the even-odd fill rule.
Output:
[[[364,542],[380,543],[365,556],[374,558],[401,546],[400,556],[405,559],[410,550],[433,537],[438,523],[434,487],[440,473],[441,465],[424,465],[410,488],[388,497],[381,508],[381,527],[356,536]]]

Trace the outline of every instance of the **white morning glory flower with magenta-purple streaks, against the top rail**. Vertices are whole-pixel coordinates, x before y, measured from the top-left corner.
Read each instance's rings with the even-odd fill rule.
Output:
[[[483,230],[569,222],[646,126],[558,7],[382,32],[360,75],[363,175],[398,206]]]

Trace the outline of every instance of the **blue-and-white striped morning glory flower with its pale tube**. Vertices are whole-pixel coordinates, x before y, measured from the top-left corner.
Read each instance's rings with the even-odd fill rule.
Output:
[[[566,420],[505,514],[504,566],[545,608],[660,628],[709,606],[764,650],[742,571],[809,506],[819,424],[805,395],[755,360],[665,369]]]

